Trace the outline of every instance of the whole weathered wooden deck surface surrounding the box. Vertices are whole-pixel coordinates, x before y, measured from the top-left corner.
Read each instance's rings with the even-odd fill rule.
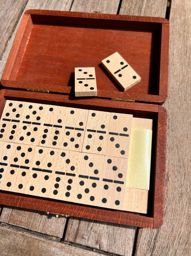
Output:
[[[0,33],[0,77],[11,50],[22,14],[27,9],[71,10],[79,12],[100,11],[125,15],[144,15],[165,17],[167,0],[123,0],[118,8],[119,0],[112,1],[37,1],[19,0],[1,1]],[[17,5],[17,7],[15,7]],[[168,111],[168,145],[167,145],[167,182],[166,182],[166,211],[165,220],[157,230],[138,228],[135,239],[135,227],[101,223],[90,220],[70,218],[65,241],[96,248],[120,255],[190,255],[191,238],[189,235],[190,218],[190,65],[191,65],[191,3],[189,1],[173,0],[170,11],[170,54],[169,54],[169,96],[164,104]],[[20,18],[20,19],[19,19]],[[19,20],[19,21],[18,21]],[[15,209],[16,211],[18,209]],[[14,210],[10,209],[10,217],[6,216],[7,209],[3,209],[2,217],[5,222],[16,223]],[[22,214],[23,215],[22,215]],[[27,211],[20,210],[24,216]],[[5,214],[5,215],[3,215]],[[13,214],[13,215],[12,215]],[[29,214],[30,215],[30,214]],[[13,216],[13,219],[12,219]],[[16,214],[15,216],[18,217]],[[27,216],[27,215],[25,215]],[[19,216],[20,217],[20,216]],[[20,224],[31,230],[43,232],[43,218],[34,211],[29,220],[21,220]],[[31,223],[33,218],[34,223]],[[58,219],[61,221],[61,219]],[[38,222],[39,221],[39,222]],[[25,223],[25,224],[23,224]],[[34,226],[38,226],[35,229]],[[47,223],[45,221],[45,223]],[[14,225],[20,225],[14,224]],[[46,224],[45,224],[46,225]],[[57,223],[56,225],[59,226]],[[46,234],[60,237],[64,223],[55,228],[50,225]],[[33,228],[31,228],[33,227]],[[119,239],[117,238],[120,238]],[[116,241],[117,240],[117,241]],[[136,243],[135,243],[136,242]],[[71,250],[70,250],[71,249]],[[34,252],[34,253],[33,253]],[[35,253],[36,252],[36,253]],[[89,254],[90,253],[90,254]],[[0,254],[1,255],[97,255],[93,251],[81,250],[64,243],[54,242],[47,238],[38,238],[30,233],[23,233],[16,229],[0,226]]]

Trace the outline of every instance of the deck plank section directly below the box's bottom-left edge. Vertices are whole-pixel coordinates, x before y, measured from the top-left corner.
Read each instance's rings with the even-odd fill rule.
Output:
[[[66,218],[63,216],[56,218],[54,215],[47,215],[39,211],[4,207],[0,215],[0,222],[62,238]]]

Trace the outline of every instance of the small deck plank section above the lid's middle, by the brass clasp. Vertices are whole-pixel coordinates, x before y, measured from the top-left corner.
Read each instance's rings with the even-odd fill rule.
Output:
[[[116,14],[119,0],[74,0],[71,8],[72,12],[92,12]]]

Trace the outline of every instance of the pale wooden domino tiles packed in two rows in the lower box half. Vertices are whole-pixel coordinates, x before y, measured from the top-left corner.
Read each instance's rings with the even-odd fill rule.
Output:
[[[152,120],[8,100],[0,119],[0,189],[146,213],[150,160],[147,174],[138,174],[142,181],[146,175],[145,187],[135,182],[137,167],[128,173],[137,127],[152,131]],[[151,142],[146,147],[151,152]]]

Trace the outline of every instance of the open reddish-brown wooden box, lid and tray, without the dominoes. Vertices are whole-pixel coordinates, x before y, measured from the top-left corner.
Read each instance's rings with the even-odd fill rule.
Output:
[[[141,77],[127,91],[101,60],[118,51]],[[0,115],[7,99],[130,113],[153,120],[147,214],[91,207],[0,191],[0,204],[124,225],[163,224],[169,22],[164,18],[28,10],[1,79]],[[74,96],[74,68],[95,66],[97,97]]]

